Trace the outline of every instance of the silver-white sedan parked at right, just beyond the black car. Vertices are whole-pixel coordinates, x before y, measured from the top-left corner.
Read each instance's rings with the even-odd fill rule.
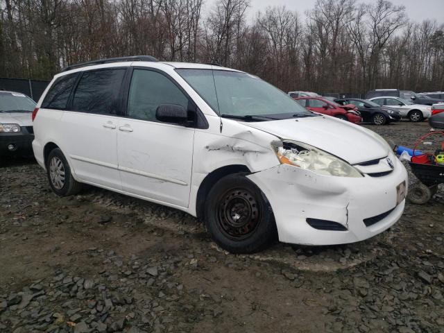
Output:
[[[369,101],[398,110],[402,118],[407,118],[413,122],[423,121],[432,115],[432,108],[429,105],[415,104],[400,97],[374,97]]]

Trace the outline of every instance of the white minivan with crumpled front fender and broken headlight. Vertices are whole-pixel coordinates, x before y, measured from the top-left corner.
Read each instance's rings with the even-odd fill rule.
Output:
[[[276,235],[361,241],[404,210],[407,172],[382,137],[234,69],[149,56],[67,67],[33,126],[35,158],[59,196],[86,183],[174,207],[232,253]]]

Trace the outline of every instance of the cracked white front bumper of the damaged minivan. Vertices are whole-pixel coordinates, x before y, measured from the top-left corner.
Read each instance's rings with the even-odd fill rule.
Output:
[[[347,244],[373,237],[400,219],[405,199],[397,205],[396,187],[404,181],[408,184],[407,171],[398,159],[394,164],[395,169],[381,177],[320,176],[282,164],[248,178],[270,202],[280,241]],[[333,221],[345,230],[318,230],[311,227],[307,219]],[[373,224],[366,226],[364,220]]]

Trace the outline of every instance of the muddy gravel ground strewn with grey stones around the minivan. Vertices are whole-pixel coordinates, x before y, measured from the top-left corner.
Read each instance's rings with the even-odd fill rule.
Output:
[[[368,126],[412,146],[427,123]],[[414,180],[414,178],[412,178]],[[0,332],[444,332],[444,191],[373,239],[219,249],[193,217],[0,167]]]

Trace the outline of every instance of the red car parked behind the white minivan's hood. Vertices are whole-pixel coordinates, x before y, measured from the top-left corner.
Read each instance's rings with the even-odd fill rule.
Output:
[[[310,111],[348,120],[351,123],[360,123],[362,121],[361,114],[357,110],[357,107],[352,104],[339,105],[338,103],[329,101],[323,97],[311,96],[299,97],[295,99],[295,101]]]

